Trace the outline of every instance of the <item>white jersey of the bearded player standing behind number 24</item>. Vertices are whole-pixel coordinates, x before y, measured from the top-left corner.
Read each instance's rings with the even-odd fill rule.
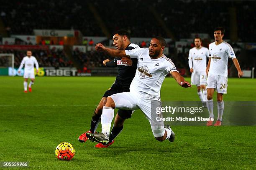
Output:
[[[205,71],[209,50],[206,47],[197,49],[196,47],[189,50],[189,59],[192,60],[192,68],[194,72]]]

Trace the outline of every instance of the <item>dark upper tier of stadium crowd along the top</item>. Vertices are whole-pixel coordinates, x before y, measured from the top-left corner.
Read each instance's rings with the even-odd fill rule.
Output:
[[[13,0],[2,2],[0,16],[10,34],[31,35],[33,29],[74,29],[81,30],[85,36],[105,36],[89,3],[95,6],[109,32],[126,29],[131,32],[132,37],[167,37],[150,10],[154,7],[177,40],[189,38],[192,32],[211,35],[213,23],[230,30],[230,7],[236,7],[238,37],[243,42],[256,39],[253,29],[256,22],[253,9],[256,8],[256,3],[253,1],[216,3],[206,0],[77,0],[73,3],[68,0]],[[243,32],[250,33],[250,36],[244,36]],[[228,31],[225,38],[229,39]]]

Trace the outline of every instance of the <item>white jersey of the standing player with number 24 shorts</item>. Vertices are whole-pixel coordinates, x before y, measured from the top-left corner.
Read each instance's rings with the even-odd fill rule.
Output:
[[[211,64],[209,75],[228,76],[228,58],[236,58],[233,48],[225,41],[216,45],[215,42],[209,45]]]

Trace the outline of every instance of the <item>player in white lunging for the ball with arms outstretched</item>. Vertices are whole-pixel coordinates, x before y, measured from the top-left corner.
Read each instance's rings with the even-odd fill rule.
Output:
[[[111,95],[102,110],[102,133],[87,133],[87,137],[95,142],[106,144],[109,139],[111,122],[114,117],[114,108],[127,110],[141,109],[151,124],[151,129],[156,140],[169,139],[174,142],[175,134],[169,125],[164,126],[161,113],[156,113],[157,107],[161,107],[160,89],[167,74],[171,74],[182,87],[191,87],[184,81],[171,59],[164,54],[165,40],[162,37],[151,39],[149,48],[136,48],[134,50],[115,50],[106,48],[102,44],[95,46],[96,50],[105,51],[111,56],[122,57],[122,62],[128,58],[138,58],[136,75],[130,86],[130,92],[122,92]]]

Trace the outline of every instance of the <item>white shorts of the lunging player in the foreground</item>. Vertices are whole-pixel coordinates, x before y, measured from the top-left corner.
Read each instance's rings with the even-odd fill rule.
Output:
[[[151,130],[154,137],[164,136],[164,122],[157,121],[156,117],[162,117],[162,115],[156,114],[156,108],[161,107],[161,101],[154,98],[147,98],[139,95],[136,92],[121,92],[110,96],[115,102],[115,108],[126,110],[138,110],[146,115],[146,118],[150,122]]]

